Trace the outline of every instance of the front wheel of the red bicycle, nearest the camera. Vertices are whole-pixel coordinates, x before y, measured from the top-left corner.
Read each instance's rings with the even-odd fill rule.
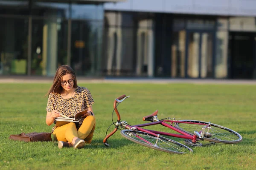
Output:
[[[126,139],[141,144],[145,147],[160,150],[168,153],[189,153],[193,152],[192,149],[179,142],[162,136],[155,137],[148,133],[134,130],[121,130],[121,135]]]

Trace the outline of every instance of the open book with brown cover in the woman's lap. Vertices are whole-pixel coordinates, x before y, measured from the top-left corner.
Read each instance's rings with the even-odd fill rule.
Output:
[[[85,113],[87,113],[87,109],[77,112],[74,117],[67,117],[60,113],[62,117],[57,117],[56,120],[56,126],[63,126],[66,125],[69,122],[79,123],[79,119],[81,119],[81,116],[83,116]]]

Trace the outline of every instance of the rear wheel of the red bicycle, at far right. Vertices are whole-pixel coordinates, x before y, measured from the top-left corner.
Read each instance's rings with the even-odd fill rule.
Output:
[[[180,120],[179,122],[204,123],[206,125],[209,124],[209,122],[202,122],[198,120]],[[202,127],[204,127],[204,125],[179,123],[179,122],[176,122],[174,126],[191,135],[194,134],[194,131],[200,132],[202,130]],[[216,143],[234,144],[234,143],[241,142],[242,136],[239,133],[227,127],[223,127],[223,126],[211,123],[210,128],[207,128],[205,130],[203,139],[206,141],[216,142]]]

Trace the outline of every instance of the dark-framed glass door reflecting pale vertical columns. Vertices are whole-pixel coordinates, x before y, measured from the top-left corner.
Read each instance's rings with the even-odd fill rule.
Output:
[[[188,31],[187,34],[187,68],[190,78],[213,77],[213,35],[210,32]]]

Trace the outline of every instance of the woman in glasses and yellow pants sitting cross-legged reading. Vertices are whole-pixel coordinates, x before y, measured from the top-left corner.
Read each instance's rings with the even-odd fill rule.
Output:
[[[74,122],[52,127],[53,139],[58,141],[58,147],[73,146],[76,149],[84,147],[85,143],[90,143],[95,129],[93,97],[87,88],[77,85],[76,74],[70,66],[61,65],[57,69],[47,95],[47,125],[55,123],[55,118],[61,117],[60,113],[73,117],[79,111],[88,110],[79,119],[78,128]]]

